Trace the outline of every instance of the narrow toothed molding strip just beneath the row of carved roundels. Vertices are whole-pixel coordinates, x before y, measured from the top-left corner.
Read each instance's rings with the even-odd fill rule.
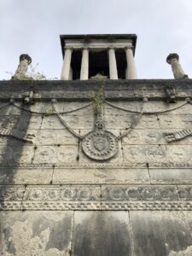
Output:
[[[143,201],[143,202],[0,202],[0,211],[192,211],[192,202],[188,201]]]

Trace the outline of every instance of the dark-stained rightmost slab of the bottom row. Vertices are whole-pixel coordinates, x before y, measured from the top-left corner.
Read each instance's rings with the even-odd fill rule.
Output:
[[[168,256],[191,246],[192,234],[181,212],[131,212],[137,256]],[[189,218],[189,217],[188,217]]]

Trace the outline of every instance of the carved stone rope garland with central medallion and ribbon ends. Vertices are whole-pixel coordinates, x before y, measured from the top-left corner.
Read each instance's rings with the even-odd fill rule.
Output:
[[[30,112],[30,113],[44,114],[44,115],[48,115],[48,114],[56,115],[58,117],[58,119],[61,121],[61,124],[64,125],[67,128],[67,130],[73,134],[73,136],[78,137],[79,140],[82,141],[81,144],[82,144],[82,149],[84,151],[84,154],[86,154],[90,159],[93,159],[93,160],[108,160],[108,159],[112,158],[115,154],[117,154],[118,147],[119,147],[118,146],[119,139],[127,136],[136,127],[136,125],[138,124],[139,120],[142,118],[143,115],[151,115],[151,114],[157,114],[157,113],[168,113],[168,112],[171,112],[178,108],[182,108],[187,103],[192,104],[192,102],[189,99],[187,99],[186,102],[184,102],[177,108],[172,108],[169,110],[158,111],[158,112],[145,112],[143,110],[139,112],[139,111],[128,110],[125,108],[119,108],[118,106],[115,106],[111,102],[104,101],[102,99],[101,95],[98,96],[97,100],[100,101],[99,102],[100,108],[98,108],[98,109],[95,108],[94,129],[93,129],[93,131],[90,131],[88,134],[86,134],[84,137],[80,136],[79,133],[77,133],[76,131],[73,131],[73,129],[67,125],[67,123],[65,122],[63,117],[61,117],[61,114],[73,113],[73,112],[79,111],[81,109],[90,107],[91,102],[81,108],[76,108],[76,109],[66,111],[66,112],[58,112],[57,111],[57,109],[55,108],[56,100],[52,100],[53,111],[51,110],[51,112],[49,112],[49,113],[48,112],[45,112],[45,113],[34,112],[27,108],[21,108],[20,106],[15,104],[14,100],[11,100],[9,103],[1,106],[0,108],[6,108],[9,106],[9,104],[12,104],[13,106],[15,106],[15,108],[20,108],[20,109]],[[105,129],[105,124],[104,124],[104,120],[103,120],[103,111],[102,111],[103,102],[105,102],[108,106],[111,106],[113,108],[117,108],[119,110],[122,110],[122,111],[125,111],[128,113],[136,113],[137,114],[136,121],[132,122],[129,129],[127,131],[125,131],[123,134],[119,135],[119,137],[116,137],[112,132],[106,131],[106,129]],[[94,104],[94,100],[93,100],[92,104]],[[93,105],[93,107],[94,107],[94,105]],[[177,132],[172,132],[172,133],[165,133],[164,135],[166,137],[167,143],[172,143],[174,141],[181,140],[184,137],[191,136],[192,130],[183,130],[183,131],[177,131]],[[24,134],[21,131],[14,131],[14,130],[10,130],[10,129],[1,129],[0,136],[15,137],[17,139],[20,139],[22,141],[26,141],[29,143],[32,143],[32,138],[35,137],[33,134]]]

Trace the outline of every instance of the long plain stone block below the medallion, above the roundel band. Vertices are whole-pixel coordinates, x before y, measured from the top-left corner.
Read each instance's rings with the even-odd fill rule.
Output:
[[[55,184],[119,184],[119,183],[149,183],[147,169],[107,169],[91,165],[87,169],[79,166],[77,169],[56,168],[53,174]]]

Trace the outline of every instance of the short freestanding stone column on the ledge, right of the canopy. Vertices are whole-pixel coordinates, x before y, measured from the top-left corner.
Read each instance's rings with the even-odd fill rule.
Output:
[[[175,79],[187,79],[188,75],[183,72],[179,61],[179,56],[176,53],[170,54],[166,58],[166,62],[172,66],[172,73]]]

